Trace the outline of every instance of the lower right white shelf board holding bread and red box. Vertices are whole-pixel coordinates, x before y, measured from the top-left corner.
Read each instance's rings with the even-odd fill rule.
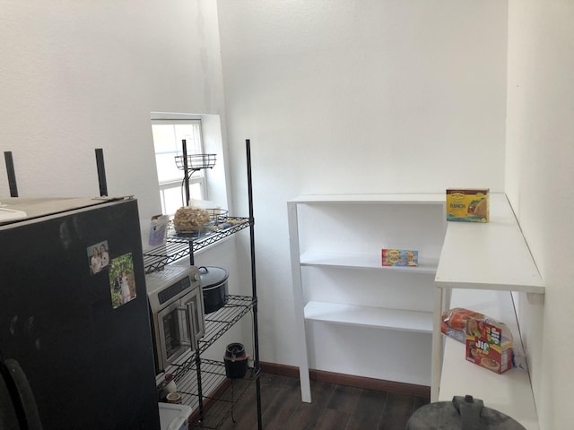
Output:
[[[509,325],[514,343],[519,342],[516,314],[509,291],[455,289],[450,307],[465,307]],[[527,430],[538,430],[535,400],[526,370],[513,368],[496,374],[465,360],[465,344],[446,338],[439,401],[471,394],[484,406],[516,419]]]

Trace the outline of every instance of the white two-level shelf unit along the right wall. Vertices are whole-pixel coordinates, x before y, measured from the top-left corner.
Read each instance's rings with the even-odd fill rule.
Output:
[[[465,361],[465,345],[440,334],[444,309],[464,307],[509,326],[521,345],[512,292],[544,303],[544,281],[504,193],[490,195],[490,222],[449,222],[435,278],[431,400],[471,394],[485,406],[537,430],[535,399],[526,370],[496,374]]]

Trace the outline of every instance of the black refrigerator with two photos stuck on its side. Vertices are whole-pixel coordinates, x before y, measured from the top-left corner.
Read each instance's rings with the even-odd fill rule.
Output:
[[[0,428],[159,429],[135,199],[0,198]]]

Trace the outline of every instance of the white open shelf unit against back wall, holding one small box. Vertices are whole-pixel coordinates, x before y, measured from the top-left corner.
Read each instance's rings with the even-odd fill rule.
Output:
[[[420,211],[422,206],[434,206],[435,219],[429,226],[421,225],[424,222],[419,220],[419,225],[413,226],[429,231],[432,228],[439,228],[433,235],[438,244],[432,244],[437,249],[437,258],[430,258],[428,255],[419,254],[419,263],[416,267],[389,267],[382,266],[380,249],[383,243],[372,246],[369,253],[358,252],[357,249],[345,246],[344,238],[338,238],[342,234],[336,229],[327,230],[325,236],[335,237],[335,246],[320,247],[321,249],[300,249],[300,213],[298,207],[308,206],[313,208],[329,207],[333,211],[345,211],[354,205],[361,205],[361,211],[393,211],[393,208],[401,208],[399,211],[409,213]],[[307,354],[305,322],[319,322],[329,324],[343,324],[354,327],[376,328],[391,331],[403,331],[413,333],[425,333],[432,335],[433,309],[430,306],[428,311],[417,309],[387,308],[384,305],[357,305],[356,303],[340,303],[335,300],[305,299],[301,276],[301,268],[325,268],[335,271],[370,271],[381,275],[385,272],[396,273],[401,279],[400,286],[404,290],[404,295],[416,294],[409,292],[409,276],[421,274],[429,276],[428,288],[434,288],[433,280],[438,268],[438,253],[442,242],[442,235],[446,221],[440,219],[439,214],[444,212],[445,194],[321,194],[321,195],[301,195],[287,202],[290,251],[291,251],[291,272],[293,280],[293,297],[295,302],[296,328],[298,331],[298,350],[300,361],[300,383],[301,397],[304,401],[310,401],[309,388],[309,361]],[[404,208],[408,209],[405,210]],[[405,212],[400,212],[405,213]],[[437,216],[438,215],[438,216]],[[397,218],[398,217],[398,218]],[[304,218],[304,217],[303,217]],[[369,218],[367,216],[367,218]],[[396,216],[397,222],[402,222],[400,215]],[[438,221],[438,222],[437,222]],[[393,225],[374,224],[377,230],[393,229]],[[316,226],[320,229],[321,226]],[[368,238],[368,232],[361,229],[361,226],[348,225],[349,230],[356,233],[354,237]],[[403,226],[403,228],[405,228]],[[410,229],[410,227],[406,227]],[[316,233],[314,231],[314,233]],[[362,235],[362,236],[361,236]],[[304,237],[303,237],[304,238]],[[361,240],[361,239],[360,239]],[[402,237],[399,238],[399,242]],[[376,241],[375,241],[376,242]],[[432,257],[432,255],[431,255]],[[403,277],[404,276],[404,277]],[[361,277],[357,274],[357,282],[361,282],[367,275]],[[324,288],[329,288],[325,286]],[[383,284],[378,286],[378,295],[387,294]],[[430,358],[430,357],[429,357]]]

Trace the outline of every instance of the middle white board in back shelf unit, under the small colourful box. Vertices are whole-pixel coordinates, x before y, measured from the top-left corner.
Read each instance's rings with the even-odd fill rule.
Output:
[[[351,269],[377,269],[385,271],[405,271],[414,273],[437,272],[439,259],[419,259],[418,266],[383,266],[380,254],[337,254],[308,252],[300,256],[302,266],[332,266]]]

